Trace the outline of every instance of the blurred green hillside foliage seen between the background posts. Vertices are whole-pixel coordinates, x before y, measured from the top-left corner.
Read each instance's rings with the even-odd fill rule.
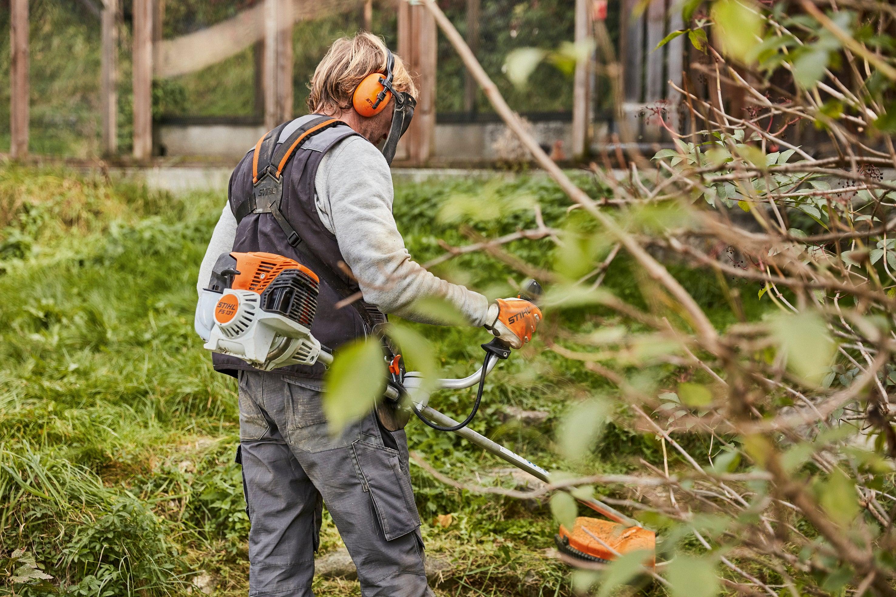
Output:
[[[30,2],[31,149],[39,154],[86,158],[99,155],[99,19],[86,4],[97,0],[32,0]],[[163,35],[173,38],[208,27],[257,4],[257,0],[167,0]],[[613,3],[616,4],[616,3]],[[461,30],[466,29],[465,3],[440,3]],[[521,112],[568,112],[572,86],[563,72],[539,65],[526,89],[504,74],[504,57],[517,47],[558,47],[573,38],[573,12],[561,0],[483,0],[479,58],[499,90]],[[616,10],[616,9],[615,9]],[[131,1],[122,2],[119,27],[119,147],[131,147]],[[374,10],[372,29],[397,46],[394,9]],[[617,19],[611,11],[610,19]],[[615,22],[615,21],[613,21]],[[294,113],[306,113],[307,84],[332,41],[362,27],[360,7],[313,21],[297,21],[293,30]],[[614,31],[616,28],[613,28]],[[9,0],[0,2],[0,36],[9,37]],[[253,48],[200,72],[153,83],[153,117],[254,116]],[[9,64],[9,44],[0,45],[0,64]],[[464,76],[460,58],[440,35],[436,111],[463,111]],[[478,92],[478,112],[491,107]],[[0,151],[9,149],[9,70],[0,69]]]

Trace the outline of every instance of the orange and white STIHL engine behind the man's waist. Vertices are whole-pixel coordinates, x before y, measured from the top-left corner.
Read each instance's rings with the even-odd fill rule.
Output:
[[[262,371],[332,362],[311,335],[320,280],[295,260],[264,252],[222,253],[196,309],[205,348]]]

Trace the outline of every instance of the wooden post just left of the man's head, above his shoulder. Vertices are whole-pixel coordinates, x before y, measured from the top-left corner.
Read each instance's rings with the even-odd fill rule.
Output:
[[[292,14],[288,0],[264,0],[264,126],[292,117]]]

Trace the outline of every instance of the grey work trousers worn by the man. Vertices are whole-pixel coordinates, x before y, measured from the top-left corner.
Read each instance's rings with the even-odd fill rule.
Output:
[[[430,597],[404,431],[370,413],[331,438],[314,382],[239,373],[237,459],[249,531],[249,595],[313,596],[323,504],[364,597]]]

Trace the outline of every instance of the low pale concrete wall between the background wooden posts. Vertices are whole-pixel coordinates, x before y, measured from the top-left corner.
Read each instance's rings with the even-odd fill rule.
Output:
[[[532,123],[536,140],[547,148],[556,141],[568,154],[572,125],[564,121]],[[475,164],[500,158],[495,152],[507,127],[503,123],[435,124],[435,164]],[[264,134],[254,124],[159,124],[157,142],[166,157],[238,159]]]

